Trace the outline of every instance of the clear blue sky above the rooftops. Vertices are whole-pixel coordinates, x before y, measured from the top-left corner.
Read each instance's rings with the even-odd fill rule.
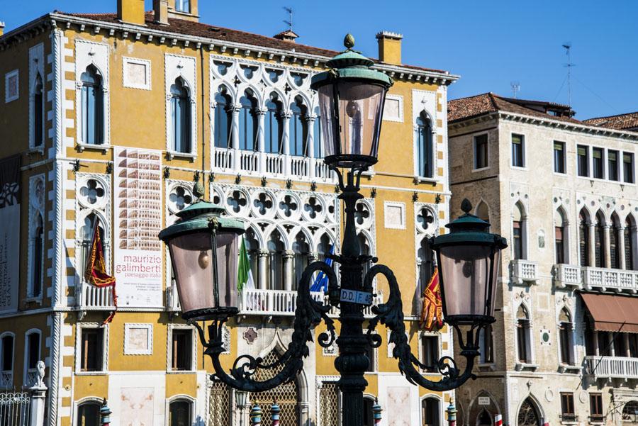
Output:
[[[152,0],[146,0],[152,9]],[[16,28],[48,11],[109,12],[117,0],[30,0],[5,7],[0,21]],[[283,6],[295,9],[299,43],[342,49],[352,32],[357,48],[377,56],[379,30],[403,33],[403,62],[460,74],[450,99],[493,91],[567,102],[566,56],[571,42],[576,118],[638,111],[638,1],[633,0],[199,0],[201,21],[274,35]],[[562,89],[561,89],[562,86]]]

